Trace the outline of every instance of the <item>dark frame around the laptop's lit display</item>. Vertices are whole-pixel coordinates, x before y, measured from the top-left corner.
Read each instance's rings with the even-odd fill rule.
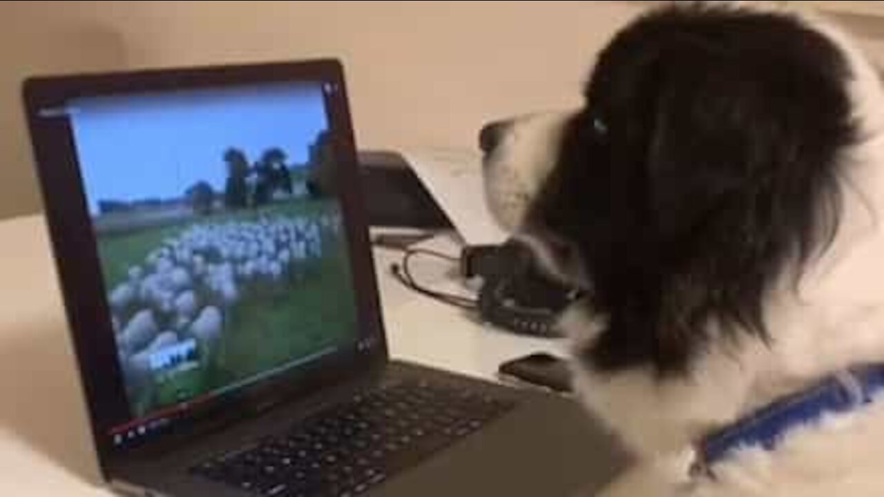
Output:
[[[348,252],[353,273],[359,336],[362,344],[328,359],[279,374],[259,385],[247,386],[223,400],[194,408],[176,420],[174,430],[146,439],[141,444],[118,447],[110,430],[118,425],[120,395],[125,401],[119,371],[110,310],[95,240],[81,181],[80,164],[72,134],[62,137],[57,125],[40,119],[40,110],[76,98],[124,96],[186,89],[242,87],[272,83],[319,83],[334,85],[326,95],[327,115],[339,184],[339,200],[345,219]],[[279,401],[309,394],[323,386],[385,363],[388,357],[385,330],[370,249],[364,199],[350,117],[344,71],[333,59],[292,63],[204,66],[185,69],[147,70],[38,77],[24,85],[27,121],[34,148],[36,171],[44,213],[50,233],[65,314],[87,400],[95,447],[105,477],[115,463],[125,463],[134,450],[180,443],[217,425],[222,417],[248,416]],[[67,142],[60,142],[67,140]],[[102,337],[95,340],[95,337]],[[364,346],[364,344],[369,344]],[[110,371],[110,374],[109,374]]]

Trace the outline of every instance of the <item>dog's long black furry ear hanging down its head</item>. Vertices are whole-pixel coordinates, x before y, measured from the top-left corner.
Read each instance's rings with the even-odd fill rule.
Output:
[[[675,50],[659,57],[644,151],[659,364],[690,356],[710,322],[766,336],[767,290],[834,236],[852,136],[837,71]]]

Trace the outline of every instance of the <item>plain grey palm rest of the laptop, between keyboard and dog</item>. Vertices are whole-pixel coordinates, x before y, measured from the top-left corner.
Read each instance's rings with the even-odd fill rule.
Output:
[[[592,494],[630,463],[615,440],[574,401],[526,393],[530,401],[370,495],[548,497]]]

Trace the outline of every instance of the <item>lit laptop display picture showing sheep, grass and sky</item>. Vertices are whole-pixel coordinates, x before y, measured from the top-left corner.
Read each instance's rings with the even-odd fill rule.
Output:
[[[118,444],[358,339],[326,91],[67,103],[131,415]]]

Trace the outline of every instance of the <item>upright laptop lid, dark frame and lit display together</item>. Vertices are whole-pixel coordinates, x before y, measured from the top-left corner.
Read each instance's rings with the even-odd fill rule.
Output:
[[[103,470],[385,361],[338,63],[37,78],[25,97]]]

